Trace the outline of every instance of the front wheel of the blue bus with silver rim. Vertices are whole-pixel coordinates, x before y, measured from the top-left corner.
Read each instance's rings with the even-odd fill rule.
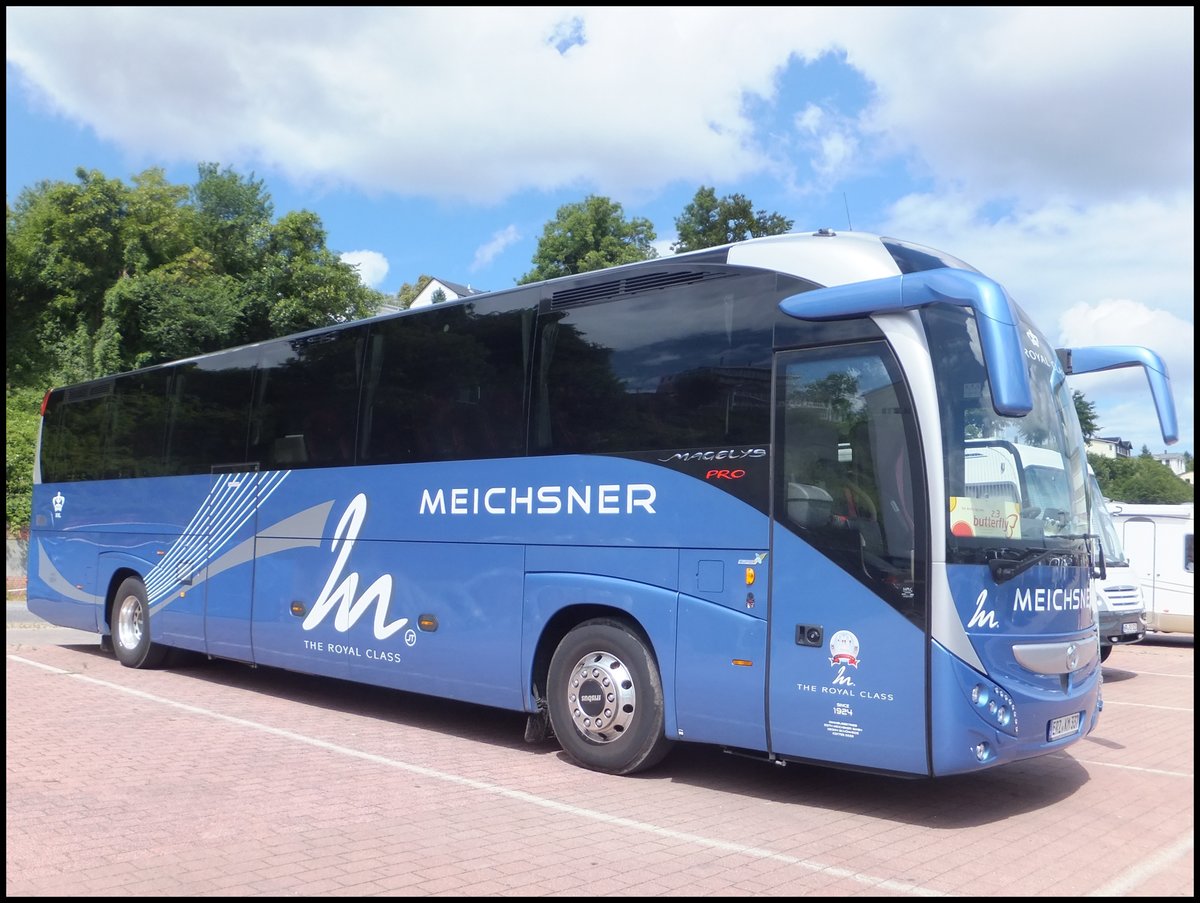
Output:
[[[632,775],[671,749],[654,653],[620,621],[586,621],[563,638],[550,662],[546,700],[554,736],[584,769]]]

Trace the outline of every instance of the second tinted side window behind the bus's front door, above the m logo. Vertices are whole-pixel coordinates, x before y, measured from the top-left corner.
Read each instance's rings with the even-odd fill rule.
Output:
[[[434,306],[371,327],[362,462],[524,454],[534,309]]]

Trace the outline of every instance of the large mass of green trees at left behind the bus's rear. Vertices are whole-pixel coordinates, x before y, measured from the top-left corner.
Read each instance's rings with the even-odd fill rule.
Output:
[[[6,208],[6,518],[29,524],[46,389],[374,313],[383,295],[312,213],[272,222],[262,180],[202,163],[132,184],[77,169]]]

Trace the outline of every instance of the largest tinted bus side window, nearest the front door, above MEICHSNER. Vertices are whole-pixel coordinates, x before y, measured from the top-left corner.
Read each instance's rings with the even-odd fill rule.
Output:
[[[544,313],[533,449],[766,443],[772,325],[788,293],[772,274],[738,275]]]

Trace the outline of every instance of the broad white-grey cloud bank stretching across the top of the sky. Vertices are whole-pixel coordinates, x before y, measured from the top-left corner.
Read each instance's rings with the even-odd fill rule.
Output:
[[[857,138],[830,120],[830,162],[883,145],[938,184],[1038,199],[1192,180],[1192,7],[8,7],[6,25],[20,82],[131,151],[370,193],[628,198],[768,172],[788,148],[746,101],[827,54],[875,91]]]

